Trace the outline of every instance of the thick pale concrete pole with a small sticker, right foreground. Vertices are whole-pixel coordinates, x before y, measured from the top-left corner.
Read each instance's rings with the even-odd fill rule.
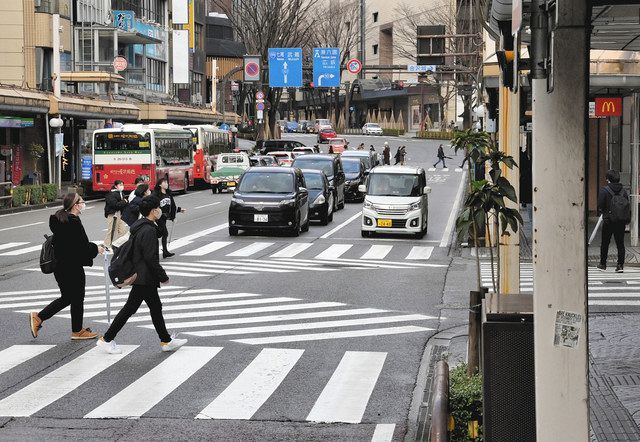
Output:
[[[553,92],[547,93],[546,80],[533,80],[536,431],[541,442],[583,442],[589,440],[585,152],[590,8],[583,0],[556,4]]]

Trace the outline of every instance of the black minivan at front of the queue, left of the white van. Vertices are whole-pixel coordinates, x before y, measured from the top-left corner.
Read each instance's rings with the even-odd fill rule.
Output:
[[[229,235],[239,230],[309,230],[309,192],[300,169],[252,167],[242,175],[229,204]]]

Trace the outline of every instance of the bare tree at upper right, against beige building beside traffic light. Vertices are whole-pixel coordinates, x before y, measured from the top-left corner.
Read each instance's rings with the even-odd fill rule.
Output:
[[[449,78],[455,82],[443,80],[444,74],[436,74],[428,79],[439,90],[440,118],[444,119],[445,106],[459,92],[460,86],[478,87],[478,69],[482,62],[482,36],[480,34],[479,17],[474,15],[474,4],[477,0],[439,0],[435,4],[416,9],[414,4],[401,3],[395,12],[399,18],[394,26],[394,50],[401,58],[411,62],[417,59],[417,27],[425,25],[441,25],[445,34],[477,34],[477,37],[445,38],[445,53],[473,53],[469,56],[445,57],[441,72],[449,71]],[[444,77],[446,78],[446,77]],[[464,126],[471,125],[472,96],[463,95]]]

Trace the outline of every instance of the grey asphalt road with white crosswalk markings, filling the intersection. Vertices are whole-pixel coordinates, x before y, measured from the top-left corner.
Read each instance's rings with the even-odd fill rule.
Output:
[[[379,151],[387,140],[393,153],[405,144],[407,164],[425,168],[438,146],[347,138]],[[360,203],[299,238],[229,237],[229,194],[178,196],[187,212],[173,226],[176,256],[162,261],[171,280],[161,296],[169,330],[189,343],[174,354],[160,351],[144,305],[116,339],[120,356],[70,341],[68,311],[32,339],[26,313],[58,293],[37,262],[53,210],[1,216],[0,439],[403,439],[426,342],[446,321],[438,305],[463,172],[427,177],[423,239],[362,238]],[[104,238],[102,202],[82,221],[91,240]],[[98,257],[87,269],[85,326],[99,332],[104,285]],[[127,291],[110,295],[114,315]]]

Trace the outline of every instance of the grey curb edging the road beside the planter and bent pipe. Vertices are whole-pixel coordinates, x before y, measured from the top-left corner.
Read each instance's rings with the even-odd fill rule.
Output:
[[[433,381],[433,371],[435,363],[440,360],[440,356],[448,349],[451,340],[466,336],[468,333],[468,324],[456,325],[451,328],[442,330],[431,336],[427,341],[420,367],[418,368],[418,378],[413,391],[413,398],[409,406],[409,415],[407,417],[407,433],[404,440],[409,441],[428,441],[430,414],[431,414],[431,383]],[[437,350],[437,354],[434,354]]]

